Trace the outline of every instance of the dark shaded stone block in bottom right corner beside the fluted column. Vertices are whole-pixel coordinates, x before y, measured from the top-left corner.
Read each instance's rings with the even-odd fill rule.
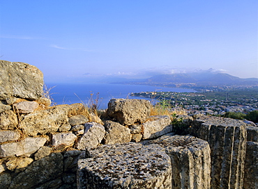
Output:
[[[243,188],[258,188],[258,142],[247,142]]]

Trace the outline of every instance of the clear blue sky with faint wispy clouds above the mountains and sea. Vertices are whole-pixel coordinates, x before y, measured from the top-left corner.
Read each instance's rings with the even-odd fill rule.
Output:
[[[0,0],[0,56],[46,82],[210,68],[258,78],[258,1]]]

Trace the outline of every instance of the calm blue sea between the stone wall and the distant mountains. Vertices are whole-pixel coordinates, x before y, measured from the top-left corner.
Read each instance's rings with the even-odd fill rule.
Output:
[[[146,99],[130,97],[132,92],[195,92],[185,88],[165,88],[150,85],[123,85],[108,83],[46,83],[54,104],[90,104],[96,103],[98,108],[105,109],[110,99]],[[151,99],[148,99],[151,101]]]

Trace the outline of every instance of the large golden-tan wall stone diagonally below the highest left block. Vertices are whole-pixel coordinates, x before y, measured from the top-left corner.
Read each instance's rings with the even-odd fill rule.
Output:
[[[68,124],[67,108],[61,106],[25,115],[19,128],[28,135],[36,136],[38,133],[54,133],[58,131],[59,127],[66,124]]]

